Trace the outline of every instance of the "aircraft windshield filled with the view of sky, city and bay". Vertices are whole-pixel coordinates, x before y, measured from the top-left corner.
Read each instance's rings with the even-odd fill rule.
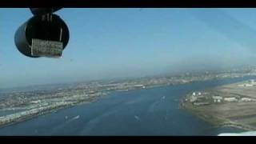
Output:
[[[256,134],[256,9],[54,14],[0,9],[0,135]]]

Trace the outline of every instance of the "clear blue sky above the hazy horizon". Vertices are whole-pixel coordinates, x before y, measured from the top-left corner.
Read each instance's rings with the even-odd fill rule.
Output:
[[[14,33],[30,10],[0,9],[0,88],[256,62],[256,9],[65,8],[57,14],[70,29],[62,58],[27,58]]]

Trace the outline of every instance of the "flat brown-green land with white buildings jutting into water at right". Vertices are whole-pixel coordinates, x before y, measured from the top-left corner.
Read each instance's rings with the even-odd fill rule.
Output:
[[[256,102],[253,101],[256,86],[241,87],[241,83],[245,82],[202,90],[199,96],[194,94],[195,92],[191,92],[180,99],[179,106],[182,110],[196,115],[213,126],[256,130]],[[222,101],[214,101],[213,97],[216,97],[216,95],[218,95],[217,98],[222,97]],[[199,100],[193,99],[194,101],[192,101],[192,97],[198,97]],[[225,102],[225,98],[226,101],[231,98],[234,101]],[[242,101],[245,99],[248,101],[251,99],[251,101]],[[198,103],[202,105],[198,105]]]

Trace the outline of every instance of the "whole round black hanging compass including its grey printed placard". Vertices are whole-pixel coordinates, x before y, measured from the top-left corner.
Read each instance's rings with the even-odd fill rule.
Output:
[[[66,23],[57,14],[34,15],[18,28],[14,42],[30,57],[61,57],[70,38]]]

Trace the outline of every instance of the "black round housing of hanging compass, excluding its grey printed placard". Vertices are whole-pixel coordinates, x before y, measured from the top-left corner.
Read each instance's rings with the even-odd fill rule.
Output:
[[[14,42],[18,50],[30,57],[38,58],[32,54],[32,41],[61,42],[64,50],[69,42],[70,32],[66,23],[56,14],[34,15],[18,28]]]

